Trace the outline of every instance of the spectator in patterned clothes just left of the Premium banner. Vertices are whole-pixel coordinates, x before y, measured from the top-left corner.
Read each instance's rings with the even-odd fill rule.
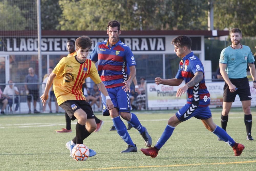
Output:
[[[145,78],[140,78],[140,84],[138,85],[141,94],[139,94],[136,98],[136,104],[138,110],[145,110],[146,109],[146,83]]]

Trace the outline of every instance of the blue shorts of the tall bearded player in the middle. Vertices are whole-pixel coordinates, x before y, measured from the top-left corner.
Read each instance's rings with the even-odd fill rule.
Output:
[[[118,109],[119,112],[131,112],[131,104],[129,93],[125,92],[122,89],[122,86],[107,88],[111,101],[115,108]],[[102,113],[104,116],[109,116],[109,110],[106,108],[106,97],[101,93],[101,99],[103,104]]]

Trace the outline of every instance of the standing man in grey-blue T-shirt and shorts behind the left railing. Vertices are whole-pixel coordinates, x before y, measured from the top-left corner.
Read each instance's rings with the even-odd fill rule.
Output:
[[[30,67],[28,69],[28,75],[26,75],[25,77],[25,83],[38,83],[38,76],[36,74],[34,74],[34,69],[32,67]],[[38,85],[37,84],[25,84],[25,89],[26,89],[26,94],[28,95],[27,100],[28,100],[28,113],[31,113],[31,96],[33,95],[34,101],[33,101],[33,105],[34,105],[34,113],[40,113],[39,111],[36,110],[36,103],[37,103],[37,99],[39,97],[39,92],[38,92]]]

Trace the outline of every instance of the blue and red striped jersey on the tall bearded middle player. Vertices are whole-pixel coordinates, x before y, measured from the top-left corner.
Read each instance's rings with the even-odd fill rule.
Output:
[[[106,88],[124,86],[129,78],[127,66],[136,65],[131,49],[120,40],[112,46],[108,40],[98,42],[89,58],[98,61],[98,73]]]

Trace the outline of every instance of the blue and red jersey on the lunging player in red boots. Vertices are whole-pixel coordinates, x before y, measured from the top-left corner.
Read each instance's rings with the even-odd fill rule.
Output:
[[[180,61],[179,70],[175,78],[183,79],[187,84],[198,71],[203,72],[204,75],[204,66],[202,62],[194,55],[194,53],[191,52]],[[203,78],[195,86],[189,87],[187,93],[187,103],[189,104],[197,104],[198,106],[208,106],[210,104],[210,93],[205,85],[205,78]]]

